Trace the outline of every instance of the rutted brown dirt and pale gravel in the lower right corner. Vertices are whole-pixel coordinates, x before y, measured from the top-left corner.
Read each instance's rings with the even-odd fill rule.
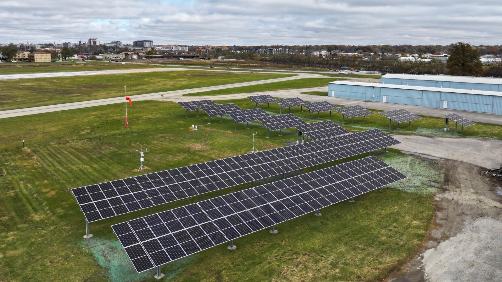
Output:
[[[443,191],[429,234],[417,255],[385,280],[501,281],[502,181],[471,163],[439,162]]]

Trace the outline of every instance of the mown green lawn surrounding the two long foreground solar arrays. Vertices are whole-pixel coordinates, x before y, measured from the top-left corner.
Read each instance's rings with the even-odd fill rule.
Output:
[[[248,100],[235,102],[254,108]],[[94,234],[83,239],[84,217],[70,189],[175,168],[249,152],[251,130],[224,119],[189,130],[199,118],[172,102],[136,102],[128,111],[131,128],[123,128],[123,105],[106,105],[59,113],[0,120],[0,277],[5,280],[144,280],[154,281],[154,271],[137,274],[120,247],[110,225],[148,214],[148,210],[90,224]],[[273,105],[271,105],[274,107]],[[277,109],[271,109],[278,111]],[[207,117],[201,117],[204,121]],[[257,124],[256,147],[266,150],[292,144],[293,132],[282,137]],[[287,134],[289,133],[289,134]],[[99,136],[101,138],[99,138]],[[21,139],[25,139],[22,148]],[[148,148],[145,165],[137,172],[136,149]],[[385,156],[398,169],[410,167],[413,158],[423,175],[437,167],[431,160],[390,150]],[[364,157],[358,155],[350,159]],[[319,165],[323,168],[338,161]],[[403,167],[401,167],[403,166]],[[304,169],[302,172],[312,170]],[[290,177],[295,173],[287,173]],[[417,172],[418,173],[418,172]],[[415,175],[409,174],[410,180]],[[255,185],[281,177],[259,181]],[[420,178],[422,179],[422,178]],[[404,180],[400,183],[407,183]],[[436,179],[441,183],[440,179]],[[420,181],[412,181],[420,187]],[[249,184],[208,193],[206,198],[249,187]],[[194,203],[193,197],[153,208],[153,212]],[[322,210],[322,217],[305,215],[282,223],[278,234],[263,230],[235,241],[235,251],[222,244],[162,268],[176,280],[360,280],[385,277],[421,245],[433,216],[432,196],[383,189]],[[28,269],[27,269],[28,267]],[[27,271],[29,270],[29,271]]]

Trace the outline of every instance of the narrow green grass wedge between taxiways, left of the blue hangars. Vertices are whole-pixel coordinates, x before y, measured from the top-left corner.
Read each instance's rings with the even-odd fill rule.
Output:
[[[274,90],[285,90],[285,89],[297,89],[297,88],[309,88],[309,87],[320,87],[327,86],[328,82],[342,79],[333,78],[300,78],[287,81],[270,82],[257,85],[233,87],[219,90],[211,90],[204,92],[188,93],[183,96],[212,96],[212,95],[229,95],[238,93],[250,93],[250,92],[261,92],[261,91],[274,91]]]

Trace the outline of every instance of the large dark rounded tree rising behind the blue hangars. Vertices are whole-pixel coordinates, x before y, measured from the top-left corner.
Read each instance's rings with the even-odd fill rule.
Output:
[[[483,64],[479,59],[479,51],[469,43],[458,42],[450,48],[450,57],[446,62],[446,74],[463,76],[481,76]]]

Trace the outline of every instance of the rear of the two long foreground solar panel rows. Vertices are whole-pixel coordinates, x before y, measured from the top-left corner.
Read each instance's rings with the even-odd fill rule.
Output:
[[[72,193],[92,222],[399,143],[371,129],[78,187]]]

